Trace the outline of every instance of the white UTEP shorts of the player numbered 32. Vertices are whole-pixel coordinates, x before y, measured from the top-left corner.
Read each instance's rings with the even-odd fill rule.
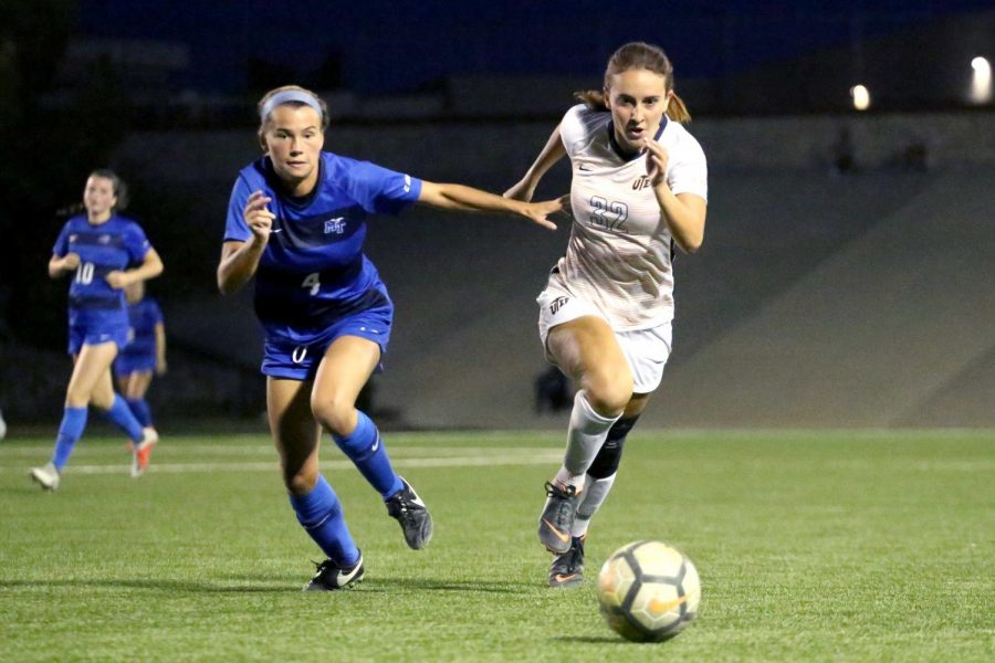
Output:
[[[597,306],[586,299],[567,295],[563,291],[546,288],[540,293],[536,303],[540,305],[540,338],[543,340],[546,359],[551,362],[552,358],[546,347],[549,329],[586,315],[597,316],[608,323]],[[610,323],[608,324],[610,326]],[[671,337],[670,323],[649,329],[615,333],[615,339],[632,371],[633,393],[650,393],[660,386],[663,367],[670,358]]]

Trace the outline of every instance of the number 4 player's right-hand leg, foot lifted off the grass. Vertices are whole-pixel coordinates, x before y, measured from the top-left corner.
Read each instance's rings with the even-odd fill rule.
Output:
[[[376,424],[356,409],[356,398],[380,362],[380,346],[358,336],[336,338],[322,358],[311,408],[338,448],[384,497],[387,513],[400,523],[405,540],[423,548],[432,536],[432,518],[425,503],[390,464]]]

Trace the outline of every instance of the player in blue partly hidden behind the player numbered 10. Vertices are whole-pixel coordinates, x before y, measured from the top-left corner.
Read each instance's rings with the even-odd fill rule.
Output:
[[[144,281],[128,285],[125,298],[128,303],[132,339],[114,360],[114,376],[135,419],[147,433],[158,439],[145,394],[153,376],[166,372],[166,326],[163,323],[163,309],[155,298],[145,295]],[[147,446],[135,456],[138,474],[148,469],[150,453],[151,446]]]

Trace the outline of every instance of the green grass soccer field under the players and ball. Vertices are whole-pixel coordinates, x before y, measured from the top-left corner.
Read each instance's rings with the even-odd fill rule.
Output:
[[[553,590],[535,525],[562,439],[388,435],[436,519],[417,552],[326,442],[367,569],[334,593],[300,591],[321,554],[264,435],[167,438],[140,480],[119,439],[86,438],[56,493],[25,476],[51,440],[8,439],[0,659],[995,660],[995,432],[636,432],[584,586]],[[662,644],[617,638],[595,599],[641,538],[702,577],[700,619]]]

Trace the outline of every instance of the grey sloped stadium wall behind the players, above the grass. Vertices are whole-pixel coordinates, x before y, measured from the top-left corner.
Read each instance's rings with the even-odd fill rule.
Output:
[[[554,125],[333,125],[326,146],[500,191]],[[995,114],[702,119],[691,130],[710,159],[709,230],[701,253],[678,257],[674,356],[648,422],[995,425],[984,370],[995,311],[978,276],[995,273],[984,250],[995,245]],[[119,160],[182,191],[196,203],[191,241],[219,243],[234,175],[258,154],[248,131],[146,133]],[[540,194],[567,186],[559,167]],[[402,427],[562,425],[533,411],[533,299],[565,243],[564,230],[421,210],[374,223],[369,252],[398,305],[378,407]],[[166,298],[172,334],[253,366],[247,299],[212,286]]]

